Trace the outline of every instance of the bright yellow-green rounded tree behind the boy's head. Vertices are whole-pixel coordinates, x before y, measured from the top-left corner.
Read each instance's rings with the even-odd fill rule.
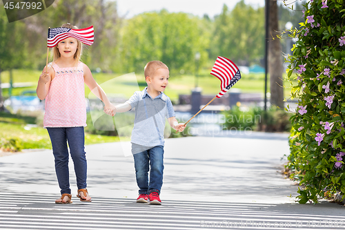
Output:
[[[124,72],[143,72],[150,60],[158,59],[172,71],[193,72],[195,53],[201,63],[207,58],[208,36],[200,28],[201,19],[166,10],[137,15],[122,28],[121,64]]]

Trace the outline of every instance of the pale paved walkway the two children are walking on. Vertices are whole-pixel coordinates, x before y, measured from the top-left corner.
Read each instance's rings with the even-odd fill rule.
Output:
[[[162,206],[135,202],[129,148],[129,142],[86,146],[93,200],[87,204],[75,197],[72,160],[74,202],[55,204],[50,150],[0,157],[0,229],[345,229],[345,207],[294,201],[297,186],[279,173],[287,135],[166,140]]]

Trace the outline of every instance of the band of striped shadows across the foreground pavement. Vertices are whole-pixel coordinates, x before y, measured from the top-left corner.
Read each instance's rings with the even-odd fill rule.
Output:
[[[1,192],[1,191],[0,191]],[[92,202],[55,204],[52,195],[0,193],[0,229],[310,229],[310,222],[341,222],[341,215],[275,211],[274,204],[164,201],[161,206],[126,198],[92,198]],[[223,224],[223,225],[222,225]],[[290,224],[290,225],[289,225]],[[344,224],[345,225],[345,224]],[[273,227],[274,226],[274,227]],[[285,225],[284,225],[285,226]],[[237,226],[237,228],[239,228]],[[322,229],[315,226],[313,229]],[[341,229],[341,228],[339,228]]]

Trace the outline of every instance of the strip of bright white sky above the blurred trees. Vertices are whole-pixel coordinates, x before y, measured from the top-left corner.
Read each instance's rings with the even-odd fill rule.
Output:
[[[120,16],[130,18],[141,12],[161,10],[166,8],[169,12],[188,12],[202,17],[219,15],[224,3],[233,8],[239,0],[117,0],[117,9]],[[245,0],[253,7],[265,6],[265,0]]]

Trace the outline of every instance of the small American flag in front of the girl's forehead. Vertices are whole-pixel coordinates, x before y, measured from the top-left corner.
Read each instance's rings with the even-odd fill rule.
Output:
[[[89,26],[88,28],[83,29],[70,29],[70,28],[50,28],[48,30],[48,44],[49,48],[56,46],[60,41],[68,38],[74,37],[78,39],[83,44],[91,46],[93,44],[93,26]]]

